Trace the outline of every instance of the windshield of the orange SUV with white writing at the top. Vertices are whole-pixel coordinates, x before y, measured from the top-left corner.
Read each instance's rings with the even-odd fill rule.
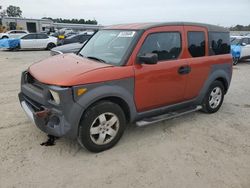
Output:
[[[136,31],[98,31],[79,52],[79,55],[112,65],[120,65]]]

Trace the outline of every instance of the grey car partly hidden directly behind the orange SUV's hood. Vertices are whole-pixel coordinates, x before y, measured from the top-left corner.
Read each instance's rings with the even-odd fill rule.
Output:
[[[71,44],[65,44],[62,46],[57,46],[50,50],[50,55],[53,56],[58,54],[77,53],[83,47],[84,43],[76,42]]]

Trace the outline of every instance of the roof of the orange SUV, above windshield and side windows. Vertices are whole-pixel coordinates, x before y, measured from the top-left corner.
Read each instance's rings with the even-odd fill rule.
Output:
[[[227,28],[195,22],[149,22],[149,23],[131,23],[107,26],[104,29],[128,29],[128,30],[147,30],[160,26],[200,26],[205,27],[208,31],[229,32]]]

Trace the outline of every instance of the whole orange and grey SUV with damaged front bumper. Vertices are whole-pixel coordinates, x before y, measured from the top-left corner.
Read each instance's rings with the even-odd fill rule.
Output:
[[[114,146],[128,123],[214,113],[232,76],[229,31],[198,23],[114,25],[77,54],[33,64],[21,78],[26,114],[49,135],[92,152]]]

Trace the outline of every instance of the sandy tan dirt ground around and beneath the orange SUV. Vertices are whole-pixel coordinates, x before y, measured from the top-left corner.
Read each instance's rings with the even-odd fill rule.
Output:
[[[46,51],[0,51],[0,187],[250,187],[250,62],[234,67],[221,110],[139,128],[93,154],[29,122],[17,94],[21,71]]]

